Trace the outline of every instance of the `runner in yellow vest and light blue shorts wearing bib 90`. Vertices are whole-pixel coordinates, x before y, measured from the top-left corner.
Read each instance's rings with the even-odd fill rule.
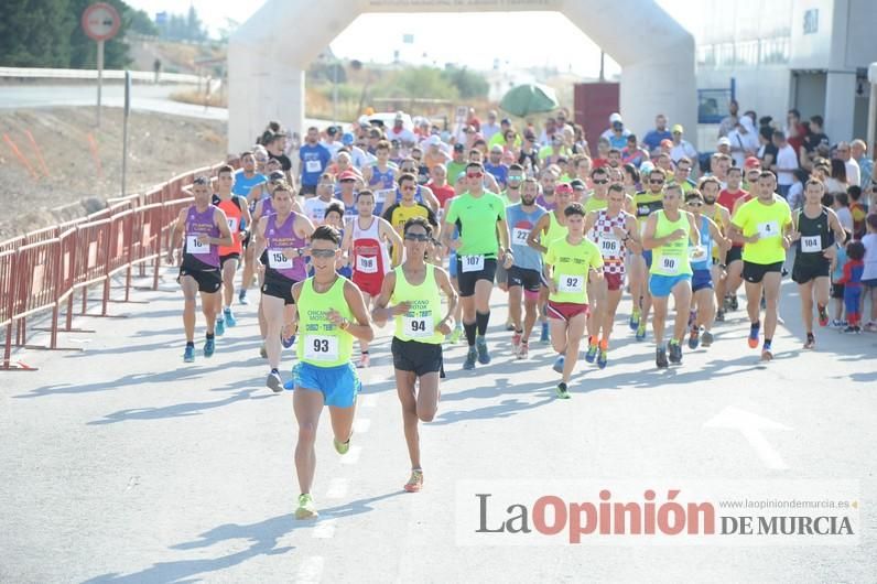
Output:
[[[649,215],[642,232],[642,247],[652,250],[651,268],[649,268],[649,293],[652,298],[654,315],[654,361],[659,368],[670,363],[682,364],[682,339],[689,325],[691,310],[691,262],[689,245],[701,242],[701,234],[694,224],[691,213],[682,210],[682,187],[676,183],[664,187],[663,209]],[[670,295],[676,311],[673,324],[673,336],[663,346],[664,322]]]

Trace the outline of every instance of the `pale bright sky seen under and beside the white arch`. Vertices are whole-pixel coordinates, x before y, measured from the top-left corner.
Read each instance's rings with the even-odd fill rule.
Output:
[[[128,0],[134,8],[155,12],[185,12],[188,4],[174,0]],[[216,33],[227,25],[227,19],[246,21],[264,0],[192,0],[202,20]],[[700,14],[689,0],[658,0],[658,3],[683,26],[694,30]],[[429,26],[424,26],[424,19]],[[591,42],[575,25],[557,12],[537,13],[474,13],[467,17],[474,30],[484,31],[479,37],[463,43],[448,42],[445,31],[458,23],[455,14],[364,14],[350,24],[332,43],[333,51],[344,58],[388,63],[399,50],[403,61],[444,65],[457,63],[474,68],[490,68],[494,58],[508,62],[509,67],[530,67],[553,64],[562,71],[572,67],[576,74],[596,76],[599,71],[599,47]],[[501,26],[497,25],[501,19]],[[381,31],[377,37],[373,31]],[[392,31],[392,32],[388,32]],[[413,44],[404,44],[402,35],[414,35]],[[524,34],[532,42],[508,43]],[[565,37],[565,55],[552,47],[556,39]],[[425,54],[425,56],[424,56]],[[504,63],[505,65],[505,63]],[[607,74],[618,72],[618,66],[607,58]]]

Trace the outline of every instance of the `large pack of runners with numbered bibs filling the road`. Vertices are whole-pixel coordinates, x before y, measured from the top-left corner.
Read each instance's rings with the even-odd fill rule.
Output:
[[[209,358],[216,337],[237,324],[237,273],[239,303],[249,302],[247,291],[258,281],[266,386],[293,390],[300,519],[317,515],[312,485],[323,407],[343,455],[353,437],[357,370],[370,366],[375,327],[390,321],[409,491],[423,487],[419,424],[436,414],[443,345],[465,339],[463,370],[491,363],[497,289],[507,294],[505,325],[516,359],[530,358],[540,323],[539,340],[554,353],[546,366],[559,375],[560,399],[571,397],[582,353],[599,368],[611,363],[625,291],[632,303],[625,324],[636,340],[647,338],[651,317],[658,368],[681,365],[684,345],[712,345],[714,325],[737,310],[744,283],[745,340],[760,345],[762,360],[772,359],[790,248],[804,348],[815,347],[814,304],[819,324],[827,324],[829,277],[848,234],[823,206],[819,180],[806,182],[804,204],[793,213],[777,194],[776,175],[757,160],[737,167],[730,156],[719,158],[725,167],[696,184],[684,156],[669,169],[647,161],[636,181],[641,188],[631,188],[620,156],[597,165],[577,154],[561,167],[553,144],[535,164],[521,164],[522,151],[507,156],[504,147],[488,148],[477,137],[451,145],[437,134],[405,133],[400,123],[382,129],[362,120],[355,131],[336,142],[339,132],[332,129],[320,143],[312,128],[293,176],[290,160],[278,154],[279,127],[269,128],[260,142],[273,152],[257,145],[240,155],[239,170],[223,166],[215,177],[195,180],[193,205],[181,210],[167,256],[174,262],[180,255],[185,361],[195,360],[198,293]],[[392,136],[398,141],[387,140]],[[877,232],[877,220],[868,221],[868,232]],[[860,264],[860,250],[851,246],[844,253]],[[671,296],[675,316],[665,333]],[[854,316],[857,311],[858,304]],[[293,346],[284,382],[283,349]]]

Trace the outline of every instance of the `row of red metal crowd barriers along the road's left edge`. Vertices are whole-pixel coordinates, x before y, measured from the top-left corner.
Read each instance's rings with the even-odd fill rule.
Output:
[[[79,350],[58,347],[58,335],[93,332],[73,328],[73,317],[110,316],[110,302],[132,302],[133,270],[147,277],[149,289],[158,290],[161,259],[170,242],[171,228],[178,212],[190,204],[184,187],[195,176],[214,176],[221,162],[171,179],[142,195],[111,199],[110,206],[86,217],[46,227],[0,241],[0,329],[4,332],[0,370],[34,370],[12,363],[12,347]],[[237,166],[237,161],[230,162]],[[120,298],[112,298],[113,281],[124,272]],[[89,312],[88,290],[102,285],[100,312]],[[74,296],[82,294],[76,312]],[[28,321],[51,311],[46,345],[28,344]],[[62,315],[62,313],[64,313]]]

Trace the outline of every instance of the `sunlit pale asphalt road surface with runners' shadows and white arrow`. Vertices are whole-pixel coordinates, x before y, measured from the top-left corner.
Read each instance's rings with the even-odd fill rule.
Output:
[[[292,515],[292,394],[262,387],[255,307],[238,307],[240,325],[213,359],[184,365],[171,271],[158,292],[134,298],[148,304],[110,306],[130,317],[76,320],[97,334],[64,334],[62,345],[84,350],[25,350],[15,358],[37,371],[0,374],[0,582],[764,583],[877,574],[877,335],[820,331],[820,350],[803,353],[788,283],[787,326],[770,365],[746,347],[735,313],[713,347],[686,350],[681,367],[659,371],[653,344],[620,325],[625,301],[609,366],[583,363],[569,401],[554,398],[546,347],[534,344],[528,361],[511,357],[506,300],[496,293],[494,361],[464,372],[463,348],[446,352],[438,415],[421,431],[420,494],[401,489],[409,463],[383,329],[345,457],[324,414],[316,522]],[[292,364],[285,353],[285,378]],[[683,489],[702,479],[765,479],[778,489],[853,479],[862,529],[849,545],[458,545],[461,522],[473,521],[457,512],[461,497],[475,495],[465,490],[472,479]]]

